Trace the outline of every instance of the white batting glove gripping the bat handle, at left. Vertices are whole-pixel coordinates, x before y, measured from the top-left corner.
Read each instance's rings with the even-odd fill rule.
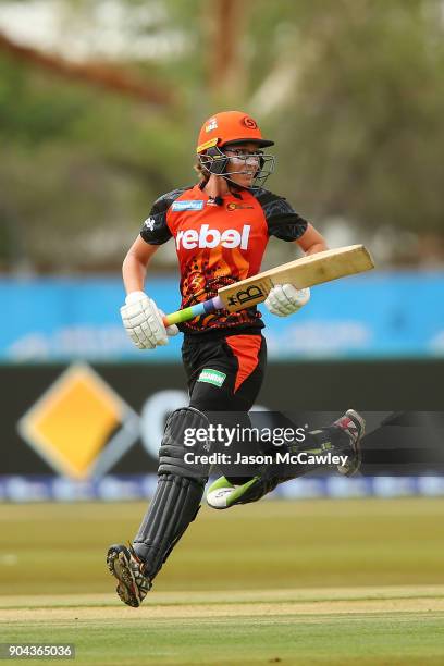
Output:
[[[132,292],[126,296],[121,316],[126,333],[139,349],[166,345],[168,336],[178,333],[176,325],[165,329],[162,321],[164,312],[144,292]]]

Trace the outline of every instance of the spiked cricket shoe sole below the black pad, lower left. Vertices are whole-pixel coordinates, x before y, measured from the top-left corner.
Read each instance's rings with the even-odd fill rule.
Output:
[[[112,545],[107,554],[107,565],[111,574],[119,580],[115,589],[121,600],[128,606],[137,608],[152,583],[144,574],[144,563],[134,552],[132,545]]]

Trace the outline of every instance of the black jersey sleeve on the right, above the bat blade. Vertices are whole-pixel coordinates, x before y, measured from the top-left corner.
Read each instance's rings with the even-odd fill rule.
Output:
[[[297,240],[305,234],[307,220],[304,220],[284,197],[262,189],[257,198],[262,206],[270,236],[289,242]]]

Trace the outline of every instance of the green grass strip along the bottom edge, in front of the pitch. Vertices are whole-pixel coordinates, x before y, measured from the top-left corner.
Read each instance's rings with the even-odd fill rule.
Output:
[[[76,664],[442,664],[444,614],[17,625],[8,640],[71,642]],[[40,661],[39,663],[47,663]],[[50,662],[48,662],[50,663]],[[70,662],[67,662],[70,663]]]

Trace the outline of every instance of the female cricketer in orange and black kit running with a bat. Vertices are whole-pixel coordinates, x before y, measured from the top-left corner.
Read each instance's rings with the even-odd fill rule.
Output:
[[[219,310],[165,329],[163,312],[145,292],[147,267],[159,246],[173,239],[185,308],[258,273],[270,236],[296,243],[306,255],[326,249],[322,235],[286,199],[263,188],[274,169],[274,157],[263,149],[272,145],[246,113],[212,115],[198,137],[199,182],[157,199],[123,262],[127,296],[121,314],[131,340],[139,349],[155,349],[180,329],[189,390],[188,407],[173,411],[166,421],[157,490],[133,543],[108,551],[118,594],[130,606],[140,605],[200,507],[209,470],[186,461],[185,431],[205,429],[210,412],[243,414],[248,419],[267,355],[264,324],[256,307],[233,313]],[[273,314],[287,317],[309,298],[308,288],[282,284],[271,289],[264,305]],[[349,409],[330,427],[308,433],[306,447],[346,453],[347,462],[338,471],[355,473],[363,429],[363,419]],[[208,452],[205,443],[201,447]],[[210,486],[207,501],[213,508],[255,502],[287,478],[263,468],[248,478],[221,477]]]

